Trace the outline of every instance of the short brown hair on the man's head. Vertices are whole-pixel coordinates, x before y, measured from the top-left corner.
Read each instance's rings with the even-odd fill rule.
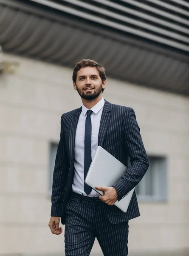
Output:
[[[93,60],[90,60],[90,59],[83,59],[82,61],[77,62],[74,69],[73,69],[73,75],[72,75],[73,82],[76,83],[77,72],[82,67],[96,67],[96,69],[99,71],[99,76],[102,79],[102,82],[106,80],[106,73],[105,73],[105,68],[104,67],[102,67],[96,61],[93,61]],[[103,91],[104,91],[104,89],[102,89],[102,93],[103,93]]]

